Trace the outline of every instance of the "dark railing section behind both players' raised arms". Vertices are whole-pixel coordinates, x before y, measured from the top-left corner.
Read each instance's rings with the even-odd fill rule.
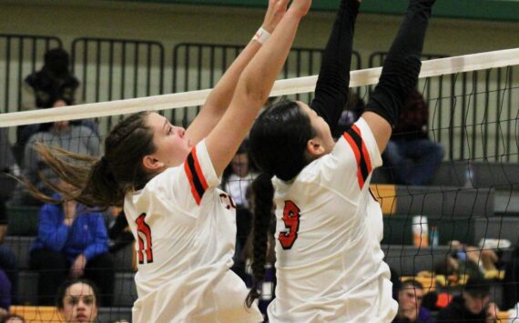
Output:
[[[182,43],[173,50],[173,92],[186,92],[211,88],[239,56],[242,45],[210,45]],[[322,50],[315,48],[292,48],[283,66],[280,78],[312,76],[319,73]],[[361,56],[354,52],[351,66],[361,69]],[[310,102],[313,94],[298,94],[292,99]],[[196,110],[198,113],[199,106]],[[187,126],[195,116],[192,109],[173,110],[171,117]]]

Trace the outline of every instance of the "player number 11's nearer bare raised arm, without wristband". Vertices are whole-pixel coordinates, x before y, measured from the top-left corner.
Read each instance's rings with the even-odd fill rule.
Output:
[[[300,19],[308,13],[310,0],[294,0],[270,39],[254,56],[241,76],[229,110],[209,134],[206,144],[220,176],[249,132],[260,107],[280,73],[294,41]]]

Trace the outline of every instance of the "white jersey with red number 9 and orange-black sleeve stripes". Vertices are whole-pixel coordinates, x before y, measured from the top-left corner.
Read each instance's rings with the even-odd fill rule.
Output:
[[[331,154],[276,187],[276,298],[271,322],[390,322],[392,299],[384,257],[382,210],[371,171],[382,166],[361,118]]]

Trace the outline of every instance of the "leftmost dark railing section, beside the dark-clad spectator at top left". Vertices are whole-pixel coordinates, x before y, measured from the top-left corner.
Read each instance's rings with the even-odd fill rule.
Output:
[[[20,110],[21,86],[25,76],[43,65],[47,50],[61,47],[59,38],[47,35],[5,35],[0,34],[0,93],[3,105],[0,113]]]

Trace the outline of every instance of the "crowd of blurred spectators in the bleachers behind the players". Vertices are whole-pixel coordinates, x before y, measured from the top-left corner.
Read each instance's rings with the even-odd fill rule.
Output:
[[[70,73],[68,66],[68,55],[63,49],[48,51],[41,70],[25,78],[23,109],[76,104],[76,94],[81,85]],[[362,97],[353,93],[342,113],[340,131],[335,136],[341,136],[361,116],[363,106]],[[435,169],[443,160],[444,151],[441,145],[429,137],[428,105],[422,94],[415,90],[407,108],[402,111],[405,113],[401,114],[383,155],[384,163],[391,170],[394,184],[430,184]],[[92,120],[19,126],[16,135],[17,142],[12,149],[5,128],[0,129],[2,172],[25,177],[37,190],[56,199],[59,196],[48,182],[53,185],[64,184],[57,182],[56,174],[46,167],[42,157],[37,154],[38,143],[44,142],[88,156],[99,156],[101,153],[101,138],[97,134],[97,124]],[[249,157],[246,140],[225,170],[221,188],[229,193],[237,207],[238,229],[232,270],[248,284],[251,257],[249,237],[254,217],[249,184],[257,174],[258,170]],[[24,321],[7,312],[11,305],[18,304],[16,293],[19,279],[15,254],[2,244],[8,233],[7,201],[13,205],[41,207],[37,236],[30,249],[30,268],[39,273],[37,305],[57,304],[66,319],[78,316],[96,318],[99,307],[110,307],[113,303],[116,268],[114,254],[133,242],[124,213],[116,207],[99,212],[75,201],[57,205],[42,203],[24,186],[17,185],[12,177],[2,176],[0,180],[0,315],[3,316],[0,322]],[[262,311],[275,297],[274,244],[275,237],[272,234],[268,273],[264,281],[263,297],[260,298]],[[446,256],[445,266],[434,268],[434,271],[436,274],[458,278],[467,274],[470,278],[461,293],[445,302],[440,293],[427,293],[417,280],[400,283],[398,279],[393,279],[394,297],[400,302],[395,322],[432,322],[432,312],[437,313],[436,318],[444,322],[459,321],[461,318],[482,322],[494,319],[498,308],[491,300],[492,282],[484,278],[484,271],[489,268],[506,268],[506,279],[510,284],[506,287],[507,298],[502,309],[514,307],[518,300],[515,287],[519,271],[517,257],[505,264],[492,250],[479,252],[478,249],[463,245],[453,245],[453,250],[456,252]],[[62,284],[64,278],[70,279],[65,285]],[[74,293],[78,296],[71,297]],[[59,299],[57,303],[56,297]],[[72,302],[81,303],[82,309],[70,312]]]

